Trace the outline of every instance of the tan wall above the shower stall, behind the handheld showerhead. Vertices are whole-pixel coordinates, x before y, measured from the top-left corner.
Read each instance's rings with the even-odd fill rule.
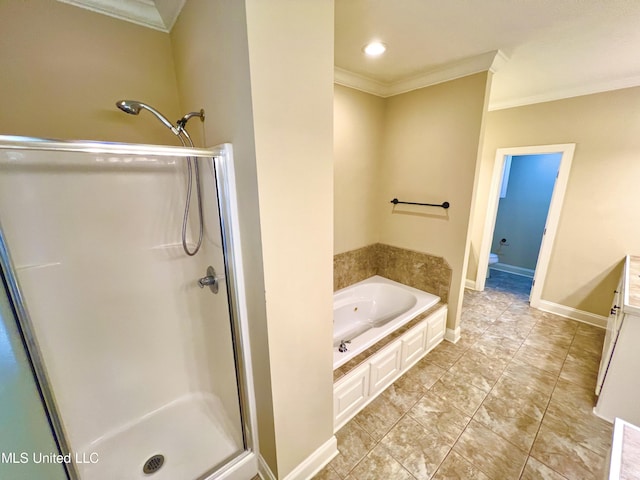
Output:
[[[51,0],[0,2],[0,32],[0,134],[179,145],[115,107],[181,116],[169,35]]]

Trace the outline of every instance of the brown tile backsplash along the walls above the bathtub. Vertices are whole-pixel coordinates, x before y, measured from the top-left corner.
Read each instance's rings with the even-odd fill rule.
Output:
[[[373,275],[449,298],[451,267],[442,257],[376,243],[333,257],[334,291]]]

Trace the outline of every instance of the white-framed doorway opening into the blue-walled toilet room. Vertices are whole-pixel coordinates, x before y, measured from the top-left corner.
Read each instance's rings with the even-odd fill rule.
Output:
[[[529,303],[533,307],[537,307],[539,305],[574,151],[575,144],[500,148],[496,151],[491,187],[489,191],[489,202],[485,218],[485,228],[482,243],[480,245],[480,255],[478,260],[479,264],[476,277],[476,288],[478,290],[484,290],[485,287],[490,253],[498,253],[499,257],[502,253],[503,261],[501,262],[498,260],[498,262],[501,263],[498,268],[501,270],[510,270],[513,273],[521,275],[532,275],[533,281],[529,295]],[[513,199],[515,202],[502,202],[504,206],[509,204],[511,205],[506,208],[506,213],[503,214],[503,212],[500,212],[499,218],[498,207],[501,203],[501,196],[506,200],[507,193],[509,192],[508,177],[511,176],[509,167],[513,166],[513,159],[516,158],[516,161],[518,162],[526,162],[527,160],[532,161],[534,159],[542,158],[541,156],[543,155],[545,156],[544,158],[547,159],[547,164],[544,165],[545,168],[542,168],[542,170],[547,170],[549,168],[553,171],[557,170],[555,182],[551,179],[550,184],[548,184],[548,189],[551,190],[551,199],[547,200],[548,209],[546,209],[546,212],[537,211],[535,214],[535,216],[537,216],[537,221],[532,222],[535,223],[535,225],[532,225],[531,228],[529,226],[524,229],[522,228],[523,225],[528,222],[523,222],[523,218],[518,218],[518,204],[522,206],[523,203],[526,204],[533,201],[540,203],[541,200],[533,200],[532,197],[527,198],[527,189],[522,188],[522,185],[516,184],[529,181],[531,182],[531,188],[529,190],[536,189],[536,186],[532,183],[532,172],[534,172],[534,170],[529,168],[531,167],[531,164],[526,165],[527,168],[524,169],[520,168],[524,164],[519,164],[516,169],[518,170],[518,175],[522,176],[524,173],[525,176],[523,178],[519,178],[517,182],[515,182],[514,179],[512,187],[521,190],[521,192],[517,195],[512,195],[512,197],[517,197]],[[555,155],[555,158],[558,159],[556,167],[553,166],[554,157],[550,155]],[[528,173],[526,173],[527,170]],[[506,182],[503,182],[503,177],[506,177]],[[541,198],[542,196],[539,197]],[[529,207],[530,206],[531,205],[529,205]],[[532,217],[531,212],[532,210],[529,209],[527,213],[524,213],[524,215],[527,216],[527,219]],[[523,215],[522,211],[520,215]],[[513,225],[514,219],[517,219],[516,225]],[[511,227],[506,226],[509,222],[512,223]],[[535,233],[536,229],[538,230],[537,234]],[[504,234],[504,232],[507,231],[511,232],[511,238]],[[500,232],[503,233],[501,234]],[[497,233],[497,238],[495,240],[494,233]]]

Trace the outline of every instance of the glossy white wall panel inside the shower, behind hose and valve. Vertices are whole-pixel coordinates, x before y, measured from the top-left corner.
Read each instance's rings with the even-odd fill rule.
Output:
[[[224,274],[211,161],[188,257],[184,159],[1,155],[0,221],[72,450],[198,392],[220,399],[241,445],[224,282],[197,285],[207,265]],[[196,220],[192,201],[190,239]]]

